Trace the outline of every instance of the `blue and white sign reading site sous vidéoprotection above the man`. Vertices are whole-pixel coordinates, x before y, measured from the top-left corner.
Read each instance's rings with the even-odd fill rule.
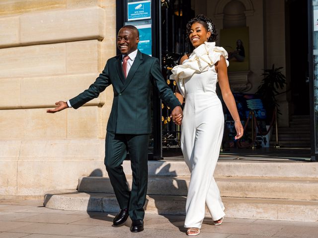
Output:
[[[151,0],[128,2],[128,21],[151,18]]]

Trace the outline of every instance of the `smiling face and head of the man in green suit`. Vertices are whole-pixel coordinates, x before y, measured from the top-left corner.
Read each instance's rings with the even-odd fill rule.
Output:
[[[123,55],[129,55],[137,50],[139,36],[137,31],[130,28],[121,28],[117,35],[117,47]]]

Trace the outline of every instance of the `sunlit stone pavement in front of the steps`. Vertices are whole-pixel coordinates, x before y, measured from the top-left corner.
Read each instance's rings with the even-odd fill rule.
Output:
[[[0,200],[0,238],[186,238],[184,216],[146,214],[145,231],[131,233],[128,220],[112,227],[114,213],[53,210],[40,200]],[[318,222],[225,217],[204,220],[198,238],[318,238]]]

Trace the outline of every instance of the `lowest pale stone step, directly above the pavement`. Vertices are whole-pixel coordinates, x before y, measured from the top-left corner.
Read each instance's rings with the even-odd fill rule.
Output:
[[[146,214],[185,214],[185,196],[147,195]],[[282,221],[318,221],[318,201],[289,199],[223,198],[225,213],[231,218]],[[114,194],[84,193],[76,190],[51,191],[44,196],[44,206],[52,209],[118,212]],[[206,216],[210,217],[206,209]]]

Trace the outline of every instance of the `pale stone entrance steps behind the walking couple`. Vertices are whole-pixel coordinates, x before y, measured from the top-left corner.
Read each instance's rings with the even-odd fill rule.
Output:
[[[184,161],[149,161],[146,213],[185,214],[190,173]],[[128,183],[130,161],[124,161]],[[318,163],[219,161],[215,179],[226,216],[318,221]],[[117,212],[107,177],[79,178],[77,190],[50,191],[44,205],[63,210]],[[206,215],[209,216],[206,210]]]

